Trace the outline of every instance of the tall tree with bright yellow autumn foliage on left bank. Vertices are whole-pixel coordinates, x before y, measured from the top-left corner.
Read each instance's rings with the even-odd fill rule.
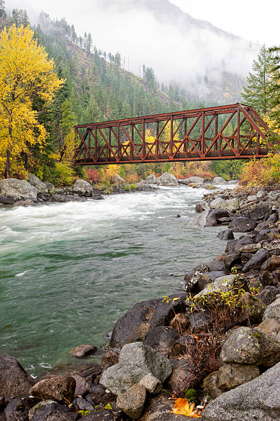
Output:
[[[0,34],[0,151],[5,177],[9,177],[12,158],[28,146],[43,144],[47,137],[32,101],[38,96],[51,102],[63,83],[29,26],[4,28]]]

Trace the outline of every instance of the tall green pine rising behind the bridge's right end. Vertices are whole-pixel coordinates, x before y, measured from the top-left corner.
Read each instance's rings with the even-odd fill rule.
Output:
[[[263,45],[253,61],[253,72],[247,78],[247,87],[242,94],[244,101],[252,105],[257,112],[266,113],[270,109],[270,67],[272,57],[270,52]]]

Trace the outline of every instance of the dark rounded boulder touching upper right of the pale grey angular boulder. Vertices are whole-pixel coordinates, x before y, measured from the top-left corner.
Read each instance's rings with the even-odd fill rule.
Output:
[[[178,336],[178,332],[173,327],[155,326],[145,337],[145,344],[168,357]]]

